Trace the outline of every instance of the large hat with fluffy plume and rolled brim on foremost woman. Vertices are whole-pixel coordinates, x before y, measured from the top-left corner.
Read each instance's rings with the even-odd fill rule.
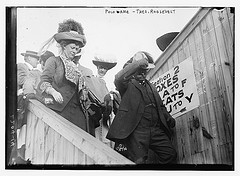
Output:
[[[86,44],[82,25],[73,19],[68,19],[59,23],[58,33],[53,37],[58,43],[61,42],[61,40],[74,40],[80,42],[81,47]]]

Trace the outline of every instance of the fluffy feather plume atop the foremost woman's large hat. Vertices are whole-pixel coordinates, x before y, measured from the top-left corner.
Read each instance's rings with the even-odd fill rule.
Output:
[[[67,19],[64,20],[62,23],[59,23],[58,33],[70,31],[76,31],[79,34],[84,35],[82,25],[73,19]]]

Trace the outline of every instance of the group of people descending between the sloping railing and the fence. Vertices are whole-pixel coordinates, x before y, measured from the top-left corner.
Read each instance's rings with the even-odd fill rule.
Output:
[[[53,41],[58,44],[56,56],[48,50]],[[96,56],[94,75],[80,64],[85,45],[82,25],[68,19],[39,52],[22,53],[25,62],[17,65],[17,132],[9,163],[30,162],[24,157],[29,99],[39,100],[136,164],[147,164],[150,150],[158,157],[157,163],[175,163],[177,153],[171,142],[175,119],[146,79],[147,71],[154,68],[151,55],[137,52],[115,75],[116,90],[109,91],[104,76],[116,60]]]

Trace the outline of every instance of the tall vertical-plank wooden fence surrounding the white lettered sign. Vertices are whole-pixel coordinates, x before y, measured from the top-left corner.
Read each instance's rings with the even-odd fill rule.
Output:
[[[193,60],[199,107],[176,118],[180,164],[233,164],[234,12],[202,8],[156,61],[151,80]],[[196,126],[199,123],[199,126]],[[213,137],[203,136],[203,128]]]

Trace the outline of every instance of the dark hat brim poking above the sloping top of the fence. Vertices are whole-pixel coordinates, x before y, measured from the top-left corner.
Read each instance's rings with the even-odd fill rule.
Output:
[[[161,51],[164,51],[179,32],[169,32],[157,38],[156,43]]]

